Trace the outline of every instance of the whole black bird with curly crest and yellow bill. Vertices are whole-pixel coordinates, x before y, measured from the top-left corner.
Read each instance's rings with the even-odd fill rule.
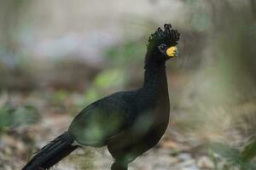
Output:
[[[114,158],[112,170],[128,164],[157,144],[169,122],[166,60],[177,56],[179,33],[171,24],[149,37],[141,88],[118,92],[88,105],[67,132],[44,146],[22,170],[49,169],[80,146],[102,147]]]

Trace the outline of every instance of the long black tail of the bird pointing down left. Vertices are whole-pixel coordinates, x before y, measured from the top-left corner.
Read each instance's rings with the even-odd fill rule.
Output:
[[[45,145],[44,148],[38,150],[38,153],[32,157],[32,160],[22,170],[49,169],[79,147],[78,145],[72,145],[73,140],[68,132],[62,133],[58,138]]]

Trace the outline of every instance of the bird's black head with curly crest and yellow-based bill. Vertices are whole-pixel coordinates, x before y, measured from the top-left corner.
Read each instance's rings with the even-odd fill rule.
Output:
[[[158,59],[167,60],[177,57],[177,41],[179,33],[172,29],[171,24],[165,24],[164,30],[158,28],[148,40],[148,52]]]

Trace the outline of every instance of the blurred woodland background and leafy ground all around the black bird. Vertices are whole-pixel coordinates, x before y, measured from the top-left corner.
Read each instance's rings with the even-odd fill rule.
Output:
[[[18,170],[90,102],[143,83],[148,36],[172,23],[170,125],[131,170],[256,169],[255,0],[0,0],[0,169]],[[106,148],[55,169],[109,169]]]

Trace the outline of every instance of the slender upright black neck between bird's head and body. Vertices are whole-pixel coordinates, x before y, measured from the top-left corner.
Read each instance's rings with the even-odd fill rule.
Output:
[[[146,55],[143,88],[168,94],[166,62],[155,62],[154,57],[150,54]]]

